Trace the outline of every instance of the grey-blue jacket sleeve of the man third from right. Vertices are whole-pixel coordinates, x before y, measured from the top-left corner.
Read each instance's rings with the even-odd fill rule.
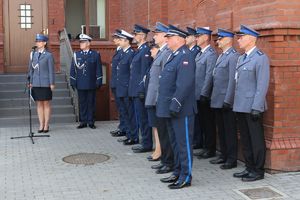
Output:
[[[204,85],[201,90],[201,95],[205,97],[210,97],[212,92],[212,82],[213,76],[212,72],[214,67],[216,66],[217,55],[215,53],[208,56],[206,60],[206,73],[205,73],[205,80]]]

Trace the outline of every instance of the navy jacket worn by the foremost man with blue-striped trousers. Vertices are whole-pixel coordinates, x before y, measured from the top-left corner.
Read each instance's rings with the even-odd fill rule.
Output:
[[[170,117],[170,111],[178,117],[197,112],[195,99],[195,59],[184,45],[171,54],[161,73],[156,114]]]

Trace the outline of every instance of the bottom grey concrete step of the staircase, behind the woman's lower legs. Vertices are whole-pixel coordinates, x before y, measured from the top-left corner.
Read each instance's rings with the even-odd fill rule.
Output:
[[[74,123],[76,117],[74,114],[54,114],[51,116],[50,124],[66,124]],[[32,116],[32,124],[38,124],[38,117]],[[0,118],[0,127],[12,127],[12,126],[29,126],[29,116],[18,117],[6,117]]]

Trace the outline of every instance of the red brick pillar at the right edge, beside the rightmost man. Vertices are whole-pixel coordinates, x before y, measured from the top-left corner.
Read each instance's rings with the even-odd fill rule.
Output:
[[[261,46],[271,59],[269,110],[265,128],[266,167],[278,171],[300,170],[300,29],[271,29]]]

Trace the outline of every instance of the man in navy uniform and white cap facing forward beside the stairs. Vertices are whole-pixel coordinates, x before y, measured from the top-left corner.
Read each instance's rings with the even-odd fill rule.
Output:
[[[70,69],[70,83],[77,89],[79,101],[78,129],[87,127],[95,129],[94,112],[96,107],[96,88],[102,85],[101,56],[90,50],[92,38],[86,34],[79,36],[80,51],[74,53]]]

